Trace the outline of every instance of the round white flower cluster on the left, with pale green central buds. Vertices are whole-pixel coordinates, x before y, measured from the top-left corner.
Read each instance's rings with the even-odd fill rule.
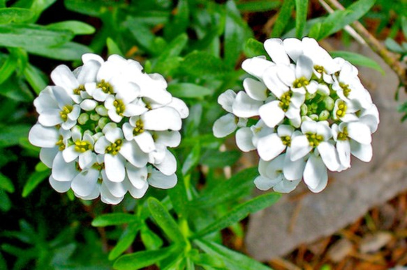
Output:
[[[91,200],[117,204],[128,191],[144,196],[149,185],[177,183],[177,161],[168,147],[181,141],[188,107],[166,90],[160,74],[146,74],[137,61],[112,55],[82,56],[71,72],[59,65],[34,100],[38,122],[29,141],[52,168],[51,186]]]

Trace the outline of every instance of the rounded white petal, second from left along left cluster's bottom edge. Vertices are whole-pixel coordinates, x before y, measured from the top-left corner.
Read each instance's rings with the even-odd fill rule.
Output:
[[[72,190],[81,197],[89,196],[98,182],[99,171],[95,169],[82,170],[72,180]]]

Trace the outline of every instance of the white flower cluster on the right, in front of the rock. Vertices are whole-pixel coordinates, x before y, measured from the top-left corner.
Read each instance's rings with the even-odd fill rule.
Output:
[[[332,58],[312,38],[273,38],[267,54],[246,59],[244,91],[227,90],[219,104],[228,111],[214,123],[216,137],[237,129],[242,151],[257,149],[258,189],[290,192],[304,179],[313,192],[325,189],[327,168],[350,168],[350,154],[372,157],[371,134],[378,110],[343,58]]]

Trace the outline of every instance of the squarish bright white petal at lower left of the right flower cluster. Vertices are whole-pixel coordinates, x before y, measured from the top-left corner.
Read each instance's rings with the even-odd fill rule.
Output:
[[[281,138],[276,133],[264,136],[258,140],[257,151],[261,159],[269,161],[286,149]]]

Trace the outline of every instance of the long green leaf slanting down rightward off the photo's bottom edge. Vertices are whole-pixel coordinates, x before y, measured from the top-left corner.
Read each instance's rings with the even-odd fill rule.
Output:
[[[197,244],[202,249],[202,251],[205,251],[209,255],[223,259],[223,262],[225,262],[226,265],[225,269],[271,270],[264,264],[261,264],[260,262],[257,262],[256,260],[253,260],[250,257],[243,255],[242,253],[231,251],[229,248],[226,248],[225,246],[221,246],[214,242],[205,240],[195,240],[194,243]]]

